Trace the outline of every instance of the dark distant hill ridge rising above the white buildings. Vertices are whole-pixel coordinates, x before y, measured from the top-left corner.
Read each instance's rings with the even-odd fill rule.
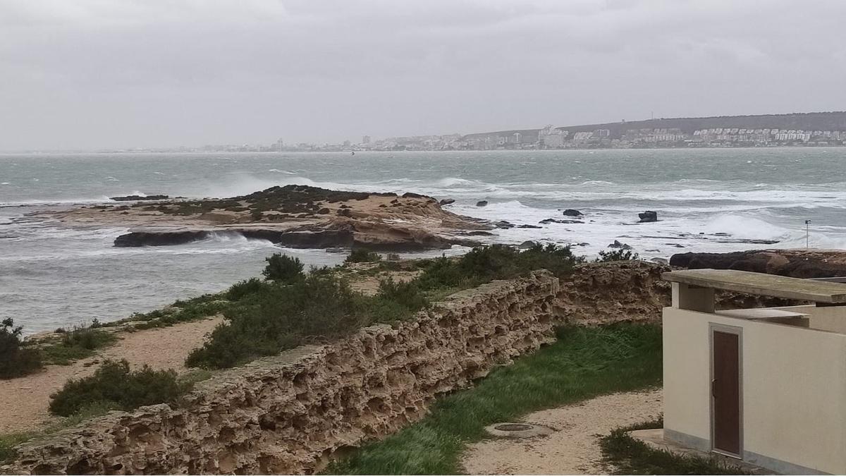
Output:
[[[745,129],[802,129],[802,130],[846,130],[846,111],[831,113],[763,114],[756,116],[713,116],[707,118],[647,119],[606,124],[570,125],[558,127],[569,132],[588,132],[596,129],[611,130],[611,136],[618,138],[626,130],[648,128],[678,128],[685,134],[694,130],[716,127],[738,127]]]

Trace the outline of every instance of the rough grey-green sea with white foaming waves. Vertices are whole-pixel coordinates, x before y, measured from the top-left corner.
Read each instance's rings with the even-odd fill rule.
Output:
[[[0,318],[26,333],[107,322],[222,291],[285,252],[334,265],[343,254],[223,236],[116,248],[127,229],[69,228],[31,216],[109,196],[238,196],[272,185],[412,191],[447,208],[538,225],[486,241],[572,244],[587,257],[614,241],[645,259],[678,252],[846,247],[846,147],[492,152],[74,153],[0,155]],[[485,207],[476,206],[486,201]],[[638,213],[658,213],[638,223]],[[810,223],[805,222],[810,220]],[[761,241],[777,241],[769,244]],[[457,254],[466,248],[406,256]]]

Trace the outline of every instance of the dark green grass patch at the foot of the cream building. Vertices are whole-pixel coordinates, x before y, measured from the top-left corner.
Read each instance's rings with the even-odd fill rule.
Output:
[[[615,474],[750,474],[720,462],[715,457],[674,455],[656,450],[629,436],[635,429],[662,428],[661,419],[615,429],[600,440],[605,462],[617,468]]]

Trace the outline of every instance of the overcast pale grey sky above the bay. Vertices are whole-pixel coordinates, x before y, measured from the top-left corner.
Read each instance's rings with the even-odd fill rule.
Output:
[[[0,0],[0,150],[846,109],[846,2]]]

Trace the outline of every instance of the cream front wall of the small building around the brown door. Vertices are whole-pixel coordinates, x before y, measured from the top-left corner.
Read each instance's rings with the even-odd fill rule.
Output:
[[[744,460],[780,473],[846,473],[846,335],[667,307],[667,437],[711,446],[709,324],[742,329]]]

